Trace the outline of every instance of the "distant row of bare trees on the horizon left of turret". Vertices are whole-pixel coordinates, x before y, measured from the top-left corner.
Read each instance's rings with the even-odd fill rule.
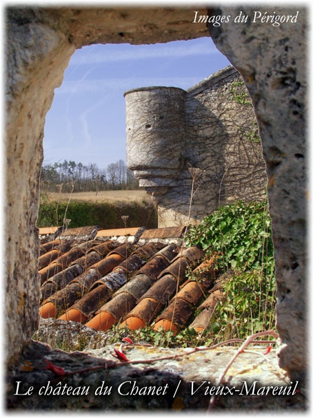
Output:
[[[81,192],[102,190],[139,189],[134,173],[123,160],[100,169],[97,164],[67,161],[43,163],[41,167],[41,191]]]

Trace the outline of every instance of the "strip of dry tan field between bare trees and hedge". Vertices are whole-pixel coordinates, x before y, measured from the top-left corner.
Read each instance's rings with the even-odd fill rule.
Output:
[[[57,202],[68,202],[68,200],[79,200],[81,202],[146,202],[152,201],[150,195],[144,190],[107,190],[99,191],[85,191],[81,193],[48,193],[49,200],[56,200]]]

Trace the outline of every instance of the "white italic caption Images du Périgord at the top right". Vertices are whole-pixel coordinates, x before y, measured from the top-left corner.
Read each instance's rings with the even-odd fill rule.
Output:
[[[212,23],[213,26],[221,26],[221,23],[229,23],[233,21],[234,23],[271,23],[272,26],[281,26],[281,23],[296,23],[298,19],[299,11],[295,15],[276,15],[276,12],[260,12],[259,10],[254,10],[253,15],[245,15],[243,11],[240,11],[236,17],[231,15],[199,15],[199,11],[194,12],[194,20],[192,23]]]

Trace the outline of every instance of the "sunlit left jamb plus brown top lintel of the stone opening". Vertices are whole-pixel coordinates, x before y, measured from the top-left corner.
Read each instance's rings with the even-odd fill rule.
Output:
[[[6,8],[8,363],[39,325],[36,220],[43,127],[54,88],[61,85],[72,53],[94,43],[146,44],[207,36],[205,23],[190,32],[192,9]]]

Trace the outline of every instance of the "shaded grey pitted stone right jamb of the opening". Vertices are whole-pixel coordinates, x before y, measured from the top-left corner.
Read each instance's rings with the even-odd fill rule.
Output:
[[[251,7],[240,10],[253,16]],[[243,75],[259,124],[272,218],[279,357],[295,377],[307,369],[307,12],[275,8],[276,15],[295,16],[297,10],[296,23],[279,28],[271,23],[210,28],[216,46]],[[223,7],[216,14],[235,16],[239,9]]]

